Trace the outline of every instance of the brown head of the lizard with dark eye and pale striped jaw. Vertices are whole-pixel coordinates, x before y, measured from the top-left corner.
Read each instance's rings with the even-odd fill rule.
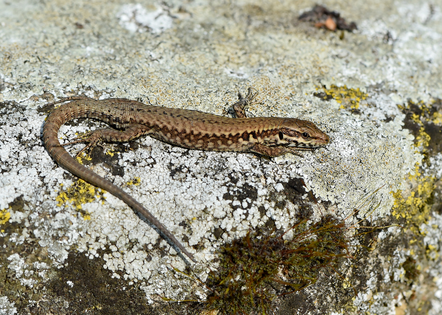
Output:
[[[279,145],[312,149],[323,147],[330,137],[308,120],[285,118],[279,128]]]

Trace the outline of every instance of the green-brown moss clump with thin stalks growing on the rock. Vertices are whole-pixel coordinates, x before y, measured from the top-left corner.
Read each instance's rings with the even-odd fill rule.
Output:
[[[348,250],[344,224],[328,217],[295,225],[290,241],[274,233],[249,232],[219,254],[219,268],[206,281],[207,308],[223,315],[267,314],[277,296],[271,285],[285,286],[282,294],[301,290],[315,283],[321,268],[335,267],[339,258],[348,257]]]

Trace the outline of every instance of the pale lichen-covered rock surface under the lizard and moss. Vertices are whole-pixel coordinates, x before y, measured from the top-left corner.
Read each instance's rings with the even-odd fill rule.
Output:
[[[210,296],[199,281],[210,282],[221,247],[272,229],[290,242],[293,224],[331,215],[348,228],[351,257],[275,298],[275,313],[438,314],[442,7],[323,4],[318,20],[304,21],[313,2],[1,2],[1,312],[197,314],[206,304],[162,297]],[[357,29],[331,31],[339,19]],[[230,115],[247,87],[262,101],[249,116],[308,119],[331,143],[304,158],[268,159],[146,137],[81,158],[182,240],[192,266],[42,145],[58,97]],[[59,136],[99,126],[72,121]]]

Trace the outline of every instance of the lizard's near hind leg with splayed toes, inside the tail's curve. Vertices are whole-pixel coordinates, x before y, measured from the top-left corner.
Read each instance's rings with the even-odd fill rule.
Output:
[[[95,146],[99,146],[103,148],[101,143],[103,142],[128,142],[134,139],[137,139],[141,136],[148,135],[151,133],[152,128],[146,125],[133,124],[130,125],[129,128],[126,128],[122,131],[114,129],[114,128],[101,128],[86,135],[79,137],[79,140],[71,141],[65,144],[61,144],[62,146],[76,144],[76,143],[84,143],[87,142],[83,149],[77,153],[77,157],[80,156],[81,153],[88,150],[91,152]]]

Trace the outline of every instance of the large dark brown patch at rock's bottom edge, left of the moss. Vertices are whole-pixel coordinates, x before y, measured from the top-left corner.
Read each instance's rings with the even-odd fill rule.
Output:
[[[109,250],[97,252],[100,256],[105,252],[110,254]],[[85,309],[90,309],[90,305],[100,305],[96,314],[159,314],[149,306],[144,294],[130,288],[123,290],[127,283],[112,279],[112,271],[104,269],[100,259],[89,259],[84,253],[73,251],[66,262],[69,263],[63,268],[55,269],[57,275],[47,284],[48,301],[38,304],[37,314],[54,310],[56,304],[64,310],[63,301],[69,303],[69,314],[82,314]],[[121,272],[117,273],[122,276]],[[73,286],[67,285],[67,281],[72,281]],[[174,307],[167,308],[170,314],[170,308]]]

